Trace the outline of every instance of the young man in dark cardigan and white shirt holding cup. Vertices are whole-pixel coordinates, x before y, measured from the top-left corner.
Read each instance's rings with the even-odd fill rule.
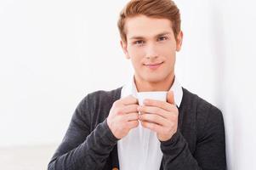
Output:
[[[174,2],[132,0],[118,28],[134,77],[82,99],[48,169],[225,169],[222,113],[182,88],[174,74],[183,38]],[[136,95],[145,91],[168,91],[167,102],[138,105]],[[140,140],[139,126],[150,129],[148,141]]]

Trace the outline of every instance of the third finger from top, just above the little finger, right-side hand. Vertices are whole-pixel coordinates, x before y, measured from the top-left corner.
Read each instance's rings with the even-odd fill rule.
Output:
[[[166,127],[169,124],[168,119],[163,118],[162,116],[158,116],[155,114],[143,114],[139,115],[139,121],[142,122],[152,122],[156,123],[160,126]]]

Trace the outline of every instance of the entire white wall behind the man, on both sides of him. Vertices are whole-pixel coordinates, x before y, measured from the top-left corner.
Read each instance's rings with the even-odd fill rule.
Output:
[[[126,2],[0,0],[0,146],[60,143],[86,94],[132,75],[117,31]],[[229,169],[254,169],[255,3],[176,3],[179,81],[223,111]]]

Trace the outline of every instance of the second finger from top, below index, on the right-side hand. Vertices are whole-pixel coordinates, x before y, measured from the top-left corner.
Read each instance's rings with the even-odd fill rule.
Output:
[[[162,116],[163,118],[168,118],[168,116],[170,115],[168,111],[162,110],[161,108],[155,106],[139,105],[138,111],[142,113],[156,114]]]

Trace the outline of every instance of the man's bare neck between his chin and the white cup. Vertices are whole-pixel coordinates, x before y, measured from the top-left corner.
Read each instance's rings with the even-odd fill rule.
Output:
[[[168,91],[174,83],[174,73],[160,82],[146,82],[134,75],[134,83],[138,92]]]

